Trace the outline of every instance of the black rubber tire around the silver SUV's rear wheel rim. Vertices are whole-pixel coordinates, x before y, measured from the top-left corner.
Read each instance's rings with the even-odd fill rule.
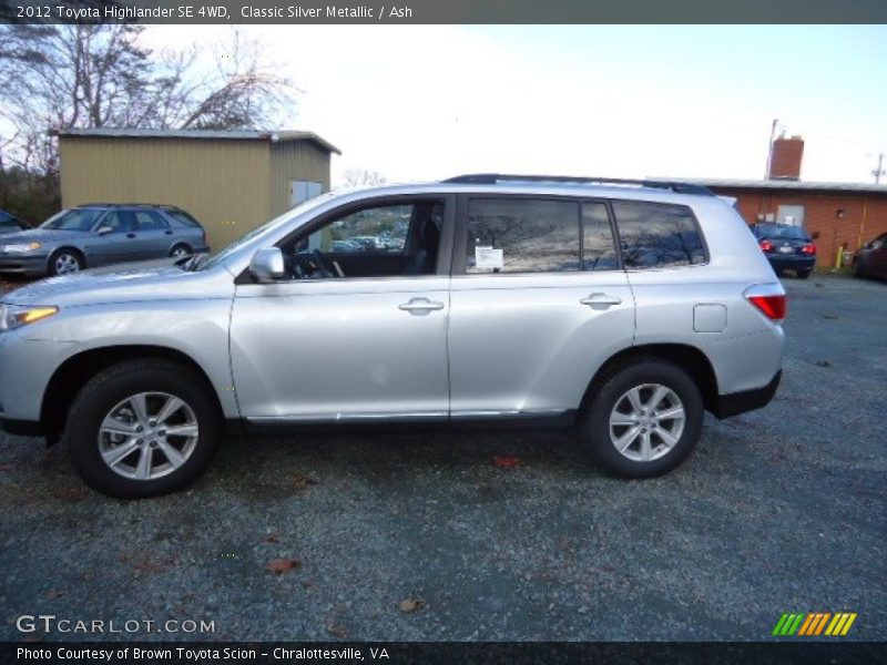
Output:
[[[639,438],[630,441],[631,448],[626,449],[626,454],[621,453],[616,450],[613,439],[611,439],[610,417],[618,406],[620,407],[620,413],[623,411],[623,405],[629,403],[625,401],[628,400],[625,396],[630,390],[635,387],[651,385],[663,386],[671,391],[670,396],[661,398],[660,405],[683,407],[684,422],[680,434],[673,437],[676,438],[676,442],[670,449],[667,449],[665,439],[661,438],[655,429],[659,428],[662,431],[664,428],[665,433],[671,436],[672,431],[677,432],[676,420],[666,419],[650,424],[649,429],[643,431],[649,432],[646,440],[651,442],[651,448],[655,444],[655,453],[667,450],[655,459],[645,461],[630,459],[628,456],[642,454],[643,434],[635,434]],[[641,402],[643,403],[644,398],[648,402],[652,401],[653,393],[654,390],[652,388],[643,388],[639,393],[642,398]],[[672,400],[672,397],[676,398],[680,405]],[[702,434],[703,413],[702,396],[690,375],[676,365],[659,358],[640,359],[615,368],[598,387],[588,407],[583,409],[580,416],[580,443],[592,457],[593,461],[608,473],[621,478],[653,478],[676,468],[693,451]],[[644,418],[648,417],[650,417],[649,411]],[[622,429],[621,426],[614,426],[613,436],[616,439],[623,434],[628,436],[632,427],[634,426],[626,426]],[[640,430],[640,427],[634,427],[634,429]],[[638,446],[636,449],[634,448],[635,443]]]

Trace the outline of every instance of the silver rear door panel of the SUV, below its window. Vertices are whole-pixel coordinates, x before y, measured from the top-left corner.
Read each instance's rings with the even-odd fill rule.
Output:
[[[575,409],[598,367],[634,331],[622,270],[455,277],[450,307],[455,419]]]

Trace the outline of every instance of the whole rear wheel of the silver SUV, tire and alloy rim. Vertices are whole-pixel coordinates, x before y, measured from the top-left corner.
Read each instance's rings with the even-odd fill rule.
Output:
[[[622,366],[580,418],[580,442],[605,471],[652,478],[677,467],[702,433],[704,407],[680,367],[649,358]]]

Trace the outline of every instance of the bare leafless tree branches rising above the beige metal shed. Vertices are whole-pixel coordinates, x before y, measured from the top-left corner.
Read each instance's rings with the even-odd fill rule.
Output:
[[[295,89],[264,62],[257,42],[235,31],[230,44],[208,51],[154,53],[143,30],[0,27],[0,113],[12,127],[0,136],[11,141],[7,161],[55,171],[53,129],[245,129],[287,110]]]

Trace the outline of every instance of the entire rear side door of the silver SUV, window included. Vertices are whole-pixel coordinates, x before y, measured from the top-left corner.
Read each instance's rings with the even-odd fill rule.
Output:
[[[460,196],[458,207],[451,417],[578,408],[598,367],[634,335],[608,205],[490,194]]]

